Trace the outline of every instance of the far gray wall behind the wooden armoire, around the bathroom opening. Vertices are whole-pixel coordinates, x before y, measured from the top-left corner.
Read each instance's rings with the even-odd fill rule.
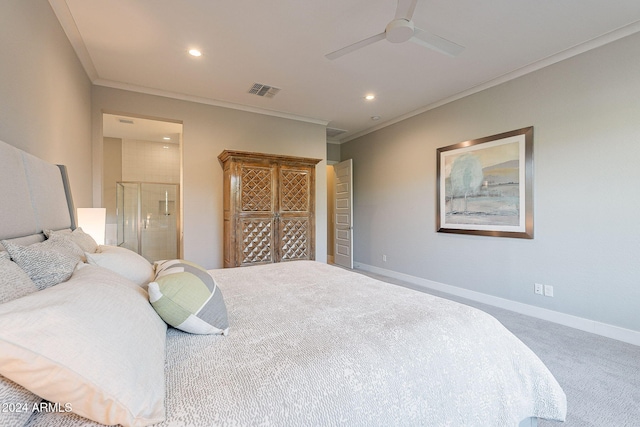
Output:
[[[225,149],[326,159],[325,126],[155,95],[93,87],[94,203],[102,203],[102,113],[183,124],[183,256],[222,267],[222,167]],[[316,167],[316,259],[327,259],[326,161]]]

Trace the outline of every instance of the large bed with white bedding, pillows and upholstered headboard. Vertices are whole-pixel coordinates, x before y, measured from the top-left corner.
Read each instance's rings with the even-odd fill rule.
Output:
[[[54,256],[41,265],[82,236],[65,169],[5,143],[0,159],[2,274],[30,276],[20,265],[30,247],[41,251],[41,275],[71,264]],[[531,426],[566,417],[565,394],[540,359],[477,309],[295,261],[207,271],[227,324],[189,333],[149,303],[160,282],[150,265],[122,248],[84,249],[60,283],[41,286],[36,275],[42,289],[0,289],[0,425]],[[103,262],[112,252],[130,261]]]

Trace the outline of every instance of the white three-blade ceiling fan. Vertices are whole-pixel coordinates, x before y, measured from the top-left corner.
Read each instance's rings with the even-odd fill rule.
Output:
[[[382,33],[338,49],[335,52],[325,55],[325,57],[334,60],[384,39],[387,39],[391,43],[403,43],[411,40],[414,43],[444,53],[445,55],[459,55],[460,52],[464,50],[464,47],[413,25],[411,18],[416,9],[417,2],[418,0],[398,0],[396,16],[387,24],[387,27]]]

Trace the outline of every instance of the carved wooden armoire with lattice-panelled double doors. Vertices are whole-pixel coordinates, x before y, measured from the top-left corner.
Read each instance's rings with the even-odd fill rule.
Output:
[[[319,159],[225,150],[224,266],[315,259]]]

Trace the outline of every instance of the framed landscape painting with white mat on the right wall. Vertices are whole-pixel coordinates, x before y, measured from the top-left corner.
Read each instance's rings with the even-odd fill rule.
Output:
[[[439,232],[533,239],[533,127],[437,153]]]

